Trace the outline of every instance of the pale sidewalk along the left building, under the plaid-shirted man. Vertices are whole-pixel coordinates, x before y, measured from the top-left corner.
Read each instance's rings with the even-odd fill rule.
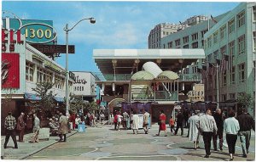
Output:
[[[77,131],[71,131],[71,133],[67,134],[67,137],[70,137],[75,133],[77,133]],[[18,136],[16,137],[18,138]],[[48,148],[59,140],[59,137],[49,137],[49,140],[39,140],[39,142],[30,143],[29,141],[31,137],[32,133],[26,134],[24,136],[25,142],[18,142],[18,149],[14,148],[15,144],[10,137],[7,148],[4,149],[3,143],[5,136],[1,136],[1,156],[3,156],[3,159],[25,159],[26,157],[35,154],[44,148]]]

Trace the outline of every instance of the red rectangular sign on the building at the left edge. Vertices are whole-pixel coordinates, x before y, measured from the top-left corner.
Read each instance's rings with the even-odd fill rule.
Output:
[[[2,88],[20,88],[19,53],[2,53]]]

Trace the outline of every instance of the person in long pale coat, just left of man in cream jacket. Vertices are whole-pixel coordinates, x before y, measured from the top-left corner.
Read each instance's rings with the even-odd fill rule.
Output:
[[[199,148],[199,138],[200,133],[198,128],[196,127],[196,123],[199,120],[199,116],[197,115],[198,112],[195,111],[195,114],[189,117],[188,124],[189,124],[189,140],[194,142],[194,149]]]

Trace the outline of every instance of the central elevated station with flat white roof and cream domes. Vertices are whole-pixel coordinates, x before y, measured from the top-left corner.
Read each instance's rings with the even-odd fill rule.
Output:
[[[205,53],[203,49],[96,49],[93,58],[102,72],[96,84],[109,111],[137,109],[139,114],[148,109],[155,122],[160,109],[169,119],[176,103],[188,99],[189,91],[201,83]]]

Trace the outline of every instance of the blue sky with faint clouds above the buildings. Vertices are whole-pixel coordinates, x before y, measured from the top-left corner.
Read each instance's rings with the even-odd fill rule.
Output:
[[[3,1],[2,10],[24,20],[53,20],[58,44],[65,45],[66,24],[94,17],[96,24],[82,21],[69,31],[68,42],[75,54],[68,56],[71,71],[99,72],[93,49],[148,48],[148,35],[154,25],[175,23],[194,15],[213,17],[236,8],[238,2],[159,2],[159,1]],[[56,59],[65,68],[66,57]]]

